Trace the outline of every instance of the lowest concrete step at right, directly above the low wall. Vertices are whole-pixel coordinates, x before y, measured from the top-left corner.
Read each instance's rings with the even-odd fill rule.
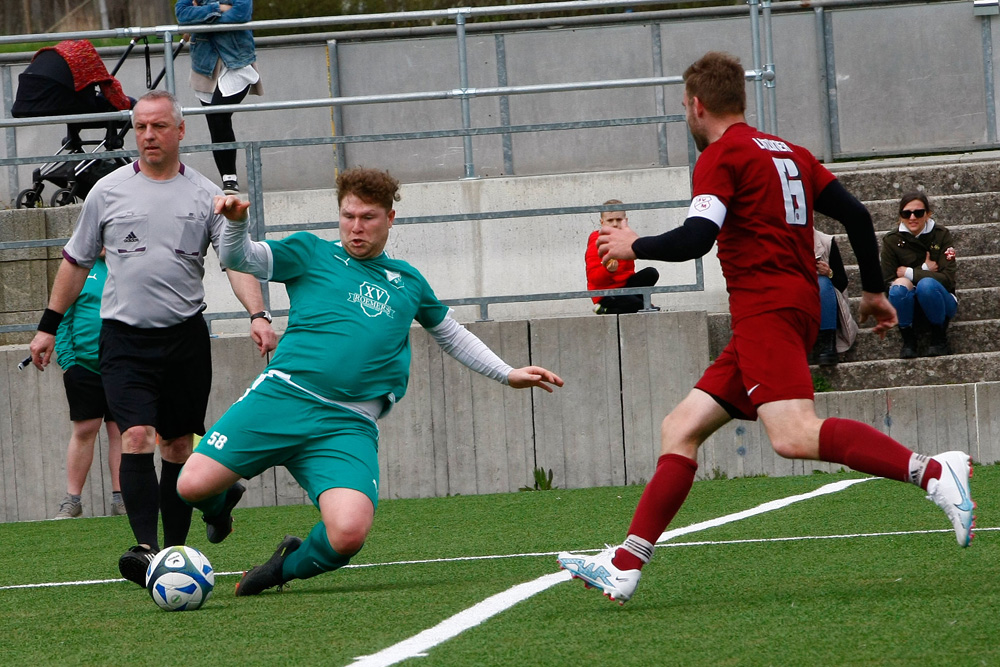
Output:
[[[832,391],[997,381],[1000,352],[842,362],[836,366],[814,366],[813,377],[825,380]]]

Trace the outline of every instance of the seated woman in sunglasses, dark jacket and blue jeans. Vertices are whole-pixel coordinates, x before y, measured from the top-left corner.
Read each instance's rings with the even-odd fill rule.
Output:
[[[951,232],[931,217],[927,196],[919,191],[903,195],[899,200],[899,229],[882,238],[882,277],[899,317],[901,359],[917,356],[913,328],[917,308],[930,324],[927,355],[951,354],[947,327],[958,309],[956,270]]]

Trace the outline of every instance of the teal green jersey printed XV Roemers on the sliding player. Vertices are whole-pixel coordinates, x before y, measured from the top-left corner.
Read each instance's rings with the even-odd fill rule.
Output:
[[[308,232],[265,241],[271,280],[288,291],[288,327],[268,368],[333,401],[406,393],[410,324],[440,324],[448,314],[427,280],[384,252],[359,260],[340,241]]]

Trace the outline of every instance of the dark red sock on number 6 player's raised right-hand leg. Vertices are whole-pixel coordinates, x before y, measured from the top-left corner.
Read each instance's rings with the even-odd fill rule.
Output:
[[[850,419],[830,417],[819,430],[820,460],[843,463],[869,475],[909,481],[912,455],[910,449],[884,433]]]

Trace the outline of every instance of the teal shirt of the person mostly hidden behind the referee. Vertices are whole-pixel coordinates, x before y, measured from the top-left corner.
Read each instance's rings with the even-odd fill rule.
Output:
[[[80,365],[100,373],[97,348],[101,336],[101,295],[108,277],[108,265],[98,257],[87,274],[80,296],[66,309],[56,331],[56,361],[66,370]]]

